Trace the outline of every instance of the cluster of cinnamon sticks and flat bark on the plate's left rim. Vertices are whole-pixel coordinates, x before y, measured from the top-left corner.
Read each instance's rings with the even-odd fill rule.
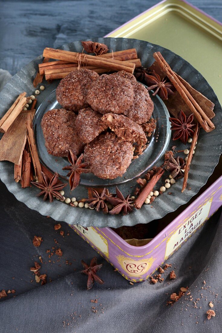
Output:
[[[37,100],[32,102],[30,110],[24,111],[29,100],[26,92],[20,94],[0,120],[0,131],[4,133],[0,141],[0,161],[14,163],[14,179],[20,181],[23,188],[30,186],[34,174],[39,181],[42,179],[32,128]]]

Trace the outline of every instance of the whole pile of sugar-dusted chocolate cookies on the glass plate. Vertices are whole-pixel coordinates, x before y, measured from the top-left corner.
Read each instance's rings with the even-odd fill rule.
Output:
[[[142,154],[147,142],[142,125],[152,115],[153,102],[132,74],[99,76],[80,69],[60,81],[56,97],[62,109],[46,112],[41,122],[49,154],[84,152],[91,172],[103,179],[123,175]]]

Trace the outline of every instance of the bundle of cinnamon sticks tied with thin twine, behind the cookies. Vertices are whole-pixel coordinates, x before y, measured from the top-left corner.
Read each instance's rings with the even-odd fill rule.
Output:
[[[46,80],[62,79],[72,71],[77,71],[81,66],[97,73],[124,70],[133,73],[134,69],[141,66],[136,49],[127,49],[110,52],[100,56],[77,53],[52,48],[43,51],[44,61],[39,64],[39,76],[45,75]],[[58,59],[49,62],[45,59]]]

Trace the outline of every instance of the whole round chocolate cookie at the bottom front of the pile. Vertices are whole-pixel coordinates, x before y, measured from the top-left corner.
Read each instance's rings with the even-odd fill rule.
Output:
[[[133,158],[133,146],[114,133],[101,134],[84,150],[84,161],[97,177],[114,179],[126,172]]]

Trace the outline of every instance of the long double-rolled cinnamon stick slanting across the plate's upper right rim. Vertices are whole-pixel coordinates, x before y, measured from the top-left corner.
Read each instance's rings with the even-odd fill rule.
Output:
[[[182,84],[176,74],[172,71],[170,66],[167,64],[160,52],[155,52],[153,54],[154,59],[157,61],[161,70],[167,75],[168,79],[172,82],[180,96],[183,98],[184,102],[187,104],[191,112],[194,114],[195,118],[199,124],[203,127],[206,132],[211,132],[215,129],[212,121],[207,117],[204,111],[201,109],[199,104],[194,100],[192,95]]]

